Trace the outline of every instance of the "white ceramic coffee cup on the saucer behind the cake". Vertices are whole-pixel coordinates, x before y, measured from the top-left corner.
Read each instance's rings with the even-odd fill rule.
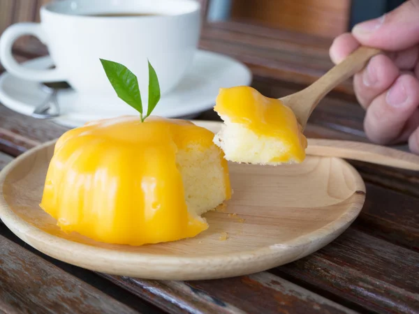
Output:
[[[95,16],[106,13],[131,16]],[[47,45],[56,68],[35,70],[15,61],[12,45],[24,35]],[[113,90],[100,58],[133,71],[142,94],[147,94],[149,59],[165,94],[191,64],[199,36],[200,5],[193,0],[61,0],[41,8],[40,24],[8,27],[0,38],[0,61],[22,79],[67,81],[81,94],[103,95]]]

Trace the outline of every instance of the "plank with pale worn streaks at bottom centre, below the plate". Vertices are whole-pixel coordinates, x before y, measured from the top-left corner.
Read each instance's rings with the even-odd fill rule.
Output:
[[[267,272],[191,282],[103,276],[169,313],[354,313]]]

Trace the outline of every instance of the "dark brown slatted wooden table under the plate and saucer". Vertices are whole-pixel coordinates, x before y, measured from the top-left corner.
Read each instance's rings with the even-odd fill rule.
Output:
[[[200,45],[246,62],[253,87],[272,97],[332,66],[328,40],[248,24],[211,24]],[[25,60],[45,51],[29,41],[16,53]],[[346,82],[316,109],[307,135],[367,141],[363,115]],[[0,168],[66,130],[0,105]],[[98,274],[43,255],[0,224],[0,312],[419,313],[419,174],[352,164],[367,184],[355,223],[321,251],[250,276],[175,282]]]

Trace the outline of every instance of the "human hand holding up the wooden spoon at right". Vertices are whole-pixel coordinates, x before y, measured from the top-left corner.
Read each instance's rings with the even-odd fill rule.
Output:
[[[353,77],[365,115],[365,133],[378,144],[409,142],[419,154],[419,0],[409,0],[335,38],[330,58],[339,63],[359,45],[385,51]]]

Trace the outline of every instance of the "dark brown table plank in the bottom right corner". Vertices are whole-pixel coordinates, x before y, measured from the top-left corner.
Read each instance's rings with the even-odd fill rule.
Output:
[[[321,251],[272,273],[316,287],[345,306],[419,313],[419,253],[353,228]]]

